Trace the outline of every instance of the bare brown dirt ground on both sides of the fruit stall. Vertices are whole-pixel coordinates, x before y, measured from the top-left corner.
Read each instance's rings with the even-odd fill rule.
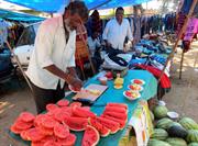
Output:
[[[182,79],[178,79],[182,54],[178,49],[170,71],[173,87],[163,100],[170,111],[198,122],[198,60],[195,64],[195,59],[198,58],[198,42],[194,43],[193,48],[185,54]],[[6,133],[22,111],[36,113],[33,98],[24,81],[12,79],[0,85],[0,146],[22,146],[9,138]]]

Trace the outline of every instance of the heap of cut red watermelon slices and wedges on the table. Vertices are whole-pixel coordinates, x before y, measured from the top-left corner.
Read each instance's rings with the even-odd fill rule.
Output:
[[[69,104],[67,100],[47,104],[46,110],[45,114],[36,116],[29,112],[21,113],[10,131],[30,141],[31,146],[73,146],[77,137],[72,131],[85,131],[81,145],[95,146],[100,136],[116,134],[128,121],[128,105],[121,103],[108,103],[100,116],[89,106],[81,106],[79,102]]]

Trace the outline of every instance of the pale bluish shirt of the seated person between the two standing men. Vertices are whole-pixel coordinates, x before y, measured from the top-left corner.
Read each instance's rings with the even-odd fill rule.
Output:
[[[89,36],[87,38],[87,43],[89,46],[89,50],[90,50],[91,55],[94,56],[96,48],[100,47],[100,41],[98,38],[92,40],[92,37]]]

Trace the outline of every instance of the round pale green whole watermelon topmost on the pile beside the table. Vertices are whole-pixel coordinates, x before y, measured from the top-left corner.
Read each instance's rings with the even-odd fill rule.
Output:
[[[155,115],[156,119],[163,119],[167,116],[167,108],[164,105],[157,105],[154,108],[153,113]]]

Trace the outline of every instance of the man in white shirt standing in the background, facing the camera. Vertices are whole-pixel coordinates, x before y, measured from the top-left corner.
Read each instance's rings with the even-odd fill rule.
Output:
[[[102,38],[106,42],[107,47],[125,50],[124,41],[125,37],[132,42],[133,36],[131,33],[130,23],[127,19],[123,19],[123,8],[118,8],[116,11],[116,19],[110,20],[102,34]]]

